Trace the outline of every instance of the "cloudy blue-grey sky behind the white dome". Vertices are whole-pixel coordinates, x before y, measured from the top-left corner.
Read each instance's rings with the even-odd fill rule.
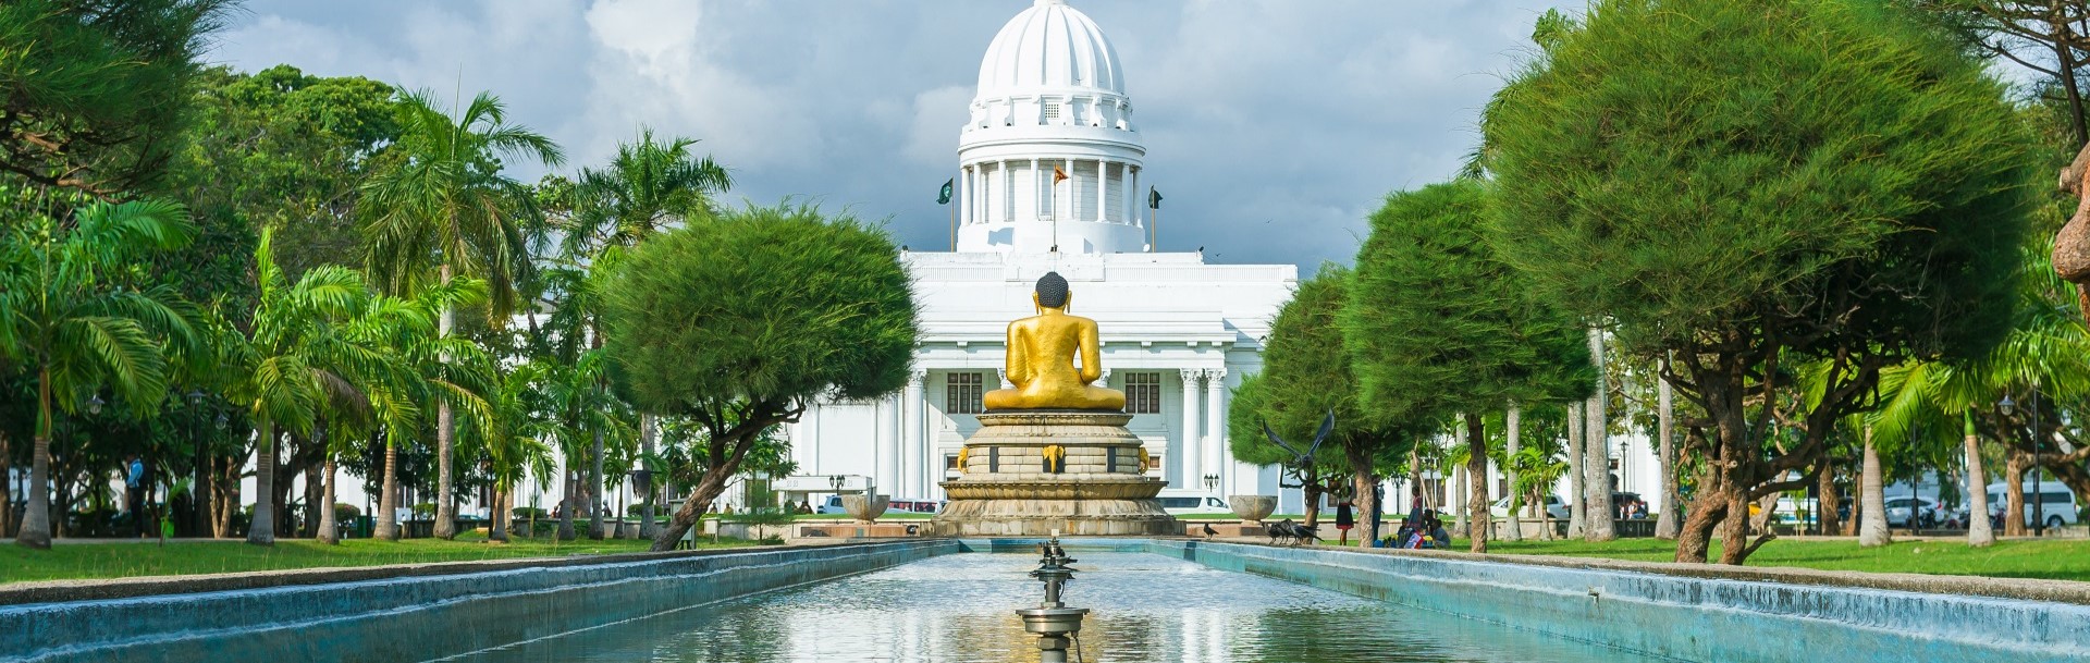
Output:
[[[1072,0],[1116,44],[1162,249],[1350,261],[1365,215],[1457,172],[1549,0]],[[936,188],[980,54],[1030,0],[249,0],[213,59],[491,90],[602,163],[650,125],[700,138],[732,201],[811,197],[945,247]],[[525,167],[525,180],[543,169]]]

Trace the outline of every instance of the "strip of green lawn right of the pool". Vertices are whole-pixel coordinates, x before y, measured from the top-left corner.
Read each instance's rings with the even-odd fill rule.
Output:
[[[1467,544],[1459,540],[1450,550],[1467,550]],[[1662,540],[1618,540],[1609,544],[1488,542],[1488,552],[1666,563],[1676,556],[1676,544]],[[1720,558],[1718,540],[1712,546],[1710,558]],[[2006,540],[1990,548],[1969,548],[1963,540],[1902,540],[1883,548],[1860,548],[1856,540],[1845,538],[1785,538],[1756,550],[1749,556],[1749,567],[2090,581],[2090,540]]]

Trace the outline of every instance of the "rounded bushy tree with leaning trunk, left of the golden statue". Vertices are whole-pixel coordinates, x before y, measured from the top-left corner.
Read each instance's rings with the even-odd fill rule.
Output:
[[[633,249],[604,295],[621,393],[706,429],[704,483],[654,548],[673,546],[759,435],[813,397],[901,389],[920,333],[892,241],[809,205],[692,220]]]

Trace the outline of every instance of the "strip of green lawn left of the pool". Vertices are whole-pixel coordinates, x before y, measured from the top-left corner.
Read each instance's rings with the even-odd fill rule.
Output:
[[[341,546],[324,546],[314,540],[278,540],[274,548],[249,546],[245,542],[176,542],[167,546],[140,544],[59,544],[50,550],[29,550],[23,546],[0,546],[0,584],[31,579],[84,579],[84,577],[132,577],[132,575],[188,575],[228,571],[274,571],[311,567],[374,567],[412,563],[451,563],[518,556],[568,556],[644,552],[644,540],[577,540],[556,542],[514,540],[510,544],[487,544],[479,533],[460,535],[456,542],[443,540],[347,540]],[[725,540],[702,548],[732,548],[748,542]]]

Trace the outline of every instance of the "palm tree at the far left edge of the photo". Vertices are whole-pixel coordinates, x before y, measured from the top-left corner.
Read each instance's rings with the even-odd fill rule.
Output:
[[[8,201],[17,209],[40,203]],[[132,264],[192,232],[173,203],[88,203],[71,224],[40,213],[0,245],[0,351],[36,376],[29,506],[17,544],[50,548],[52,410],[75,412],[109,387],[148,412],[167,389],[163,345],[194,343],[180,295],[123,284]]]

